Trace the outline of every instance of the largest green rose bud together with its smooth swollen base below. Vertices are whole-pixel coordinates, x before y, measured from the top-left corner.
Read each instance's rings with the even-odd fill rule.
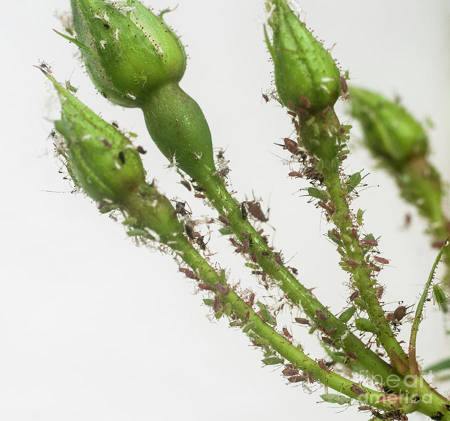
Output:
[[[200,184],[215,171],[208,124],[179,86],[186,55],[178,37],[137,0],[71,0],[87,72],[119,105],[139,107],[156,146]]]

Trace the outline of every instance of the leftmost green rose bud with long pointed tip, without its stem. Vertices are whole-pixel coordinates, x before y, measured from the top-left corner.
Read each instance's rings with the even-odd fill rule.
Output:
[[[115,127],[45,74],[61,102],[61,120],[55,127],[65,140],[75,183],[97,202],[121,203],[145,181],[139,153]]]

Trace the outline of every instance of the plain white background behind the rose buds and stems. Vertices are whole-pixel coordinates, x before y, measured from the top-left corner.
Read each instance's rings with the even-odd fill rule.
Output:
[[[156,10],[167,5],[176,2],[151,3]],[[337,42],[333,56],[350,70],[352,83],[398,94],[417,118],[432,118],[431,159],[450,180],[448,1],[304,0],[299,6],[326,47]],[[175,184],[141,112],[111,106],[95,92],[74,57],[76,48],[51,30],[61,28],[55,9],[68,9],[68,0],[24,0],[2,8],[0,419],[367,419],[355,407],[334,414],[339,409],[316,404],[318,393],[308,396],[301,387],[286,386],[279,370],[261,368],[260,352],[244,335],[225,320],[206,318],[201,297],[170,257],[134,247],[93,203],[67,193],[47,139],[52,123],[46,117],[57,117],[57,107],[32,67],[38,59],[52,63],[60,81],[72,75],[78,97],[106,120],[139,134],[138,144],[148,150],[144,164],[163,192],[187,200],[198,214],[215,216]],[[273,142],[289,135],[290,125],[279,106],[261,101],[271,83],[263,9],[256,0],[179,0],[165,18],[187,44],[181,86],[202,107],[214,146],[227,147],[236,197],[254,192],[270,207],[275,246],[337,313],[348,294],[342,285],[347,278],[323,237],[328,228],[300,193],[293,194],[307,182],[288,179],[288,168],[274,155],[282,155]],[[344,108],[338,114],[345,120]],[[412,304],[436,251],[423,235],[425,225],[359,147],[357,128],[354,133],[347,171],[364,168],[372,186],[355,206],[368,209],[366,229],[382,236],[380,250],[392,260],[380,274],[385,301],[393,302],[391,308],[398,300]],[[407,212],[413,223],[406,230]],[[230,280],[254,282],[226,241],[210,244],[218,252],[213,259],[232,269]],[[418,355],[429,364],[448,356],[448,342],[430,304],[426,315]],[[323,356],[305,330],[295,328],[294,334],[311,356]]]

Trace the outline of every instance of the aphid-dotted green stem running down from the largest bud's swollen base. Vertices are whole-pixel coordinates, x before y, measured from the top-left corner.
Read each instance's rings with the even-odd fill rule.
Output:
[[[380,376],[382,381],[385,381],[393,373],[393,369],[373,351],[367,349],[344,323],[340,322],[315,298],[310,290],[295,279],[286,267],[274,261],[273,252],[248,219],[242,217],[240,204],[229,194],[223,180],[217,175],[211,175],[201,186],[205,189],[204,193],[214,208],[228,220],[230,232],[240,242],[251,238],[248,254],[254,253],[256,255],[257,263],[261,269],[269,278],[277,281],[278,287],[288,296],[290,301],[295,305],[300,304],[313,324],[322,325],[326,330],[336,329],[337,332],[330,338],[335,346],[337,348],[342,347],[344,351],[356,355],[358,366],[366,373]],[[242,233],[247,233],[248,237],[244,237]],[[327,320],[318,319],[316,311],[323,312]]]

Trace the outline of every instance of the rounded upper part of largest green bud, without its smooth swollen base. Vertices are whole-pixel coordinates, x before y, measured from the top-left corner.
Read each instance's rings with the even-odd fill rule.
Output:
[[[139,1],[70,3],[77,35],[72,40],[92,82],[112,102],[135,107],[156,86],[181,79],[186,67],[181,42]]]

